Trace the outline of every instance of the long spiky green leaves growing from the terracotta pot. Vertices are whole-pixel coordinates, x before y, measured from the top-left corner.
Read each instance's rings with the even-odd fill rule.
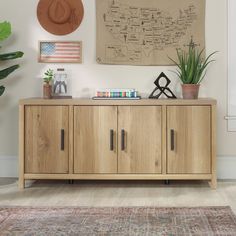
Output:
[[[188,51],[176,49],[178,61],[169,58],[178,67],[175,72],[183,84],[200,84],[206,75],[206,68],[215,61],[210,60],[217,53],[211,53],[206,59],[203,58],[204,49],[200,52],[196,49],[196,45],[191,39]]]

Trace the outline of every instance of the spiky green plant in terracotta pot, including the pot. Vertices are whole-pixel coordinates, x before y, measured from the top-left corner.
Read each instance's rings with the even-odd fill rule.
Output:
[[[182,82],[182,94],[184,99],[197,99],[201,81],[206,75],[206,68],[215,61],[210,58],[216,53],[211,53],[206,59],[203,57],[204,49],[198,51],[196,44],[191,39],[188,51],[176,49],[178,61],[172,62],[178,67],[176,74]]]

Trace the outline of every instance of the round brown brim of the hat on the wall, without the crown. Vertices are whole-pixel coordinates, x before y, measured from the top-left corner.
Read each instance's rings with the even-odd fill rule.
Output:
[[[40,0],[37,8],[37,16],[40,25],[48,32],[55,35],[66,35],[74,32],[81,24],[84,16],[84,7],[81,0],[60,0],[68,3],[71,13],[67,21],[56,23],[49,16],[49,8],[54,1]]]

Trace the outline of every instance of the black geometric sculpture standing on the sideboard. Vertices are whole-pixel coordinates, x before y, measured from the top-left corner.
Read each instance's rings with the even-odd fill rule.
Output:
[[[166,80],[166,85],[161,86],[160,80],[164,78]],[[170,90],[168,87],[170,85],[171,81],[170,79],[162,72],[158,78],[155,80],[154,84],[156,85],[156,88],[153,90],[149,98],[152,99],[158,99],[161,97],[162,94],[164,94],[167,98],[176,99],[177,97],[174,95],[174,93]]]

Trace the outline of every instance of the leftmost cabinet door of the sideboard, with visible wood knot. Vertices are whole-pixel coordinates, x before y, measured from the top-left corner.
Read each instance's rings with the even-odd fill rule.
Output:
[[[68,173],[68,107],[25,107],[25,173]]]

